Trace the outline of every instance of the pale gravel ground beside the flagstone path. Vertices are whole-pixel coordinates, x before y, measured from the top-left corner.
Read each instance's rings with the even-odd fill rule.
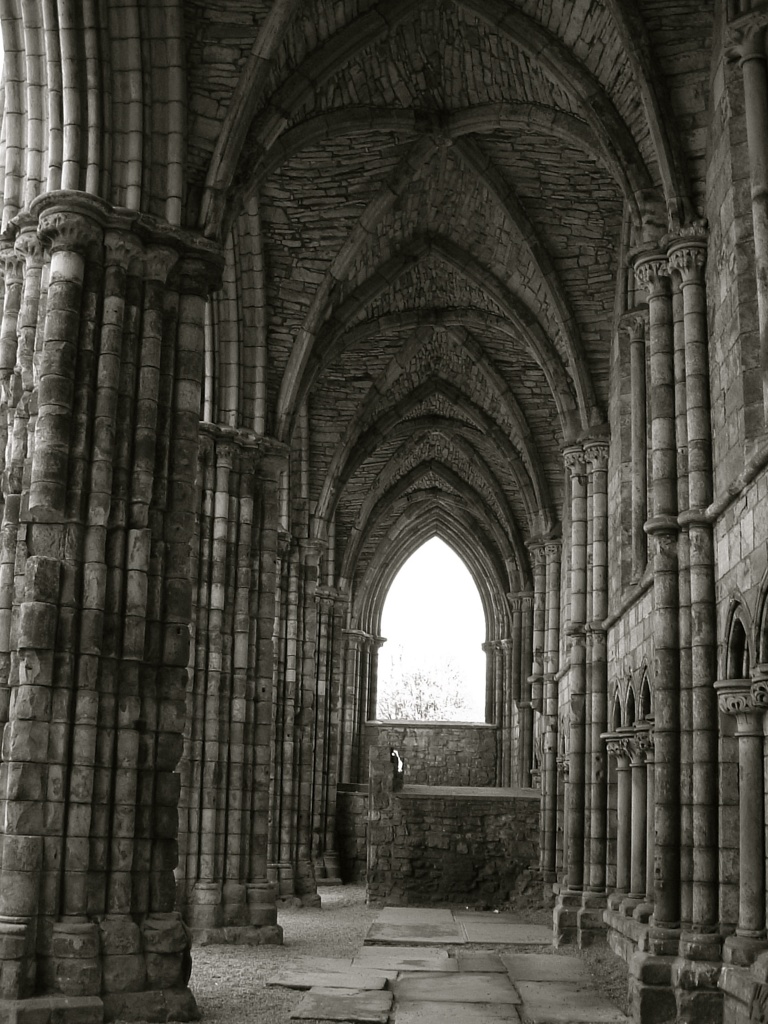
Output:
[[[282,946],[203,946],[193,950],[190,987],[205,1024],[289,1024],[302,993],[288,988],[267,988],[279,970],[298,966],[304,956],[354,956],[379,910],[366,906],[361,886],[322,890],[323,907],[287,906],[280,911],[285,941]],[[552,911],[531,897],[520,905],[505,906],[518,920],[549,924]],[[464,909],[464,907],[462,907]],[[458,949],[523,952],[520,946],[470,945]],[[541,952],[541,947],[529,947]],[[606,946],[560,950],[579,956],[590,971],[595,987],[627,1013],[627,966]]]

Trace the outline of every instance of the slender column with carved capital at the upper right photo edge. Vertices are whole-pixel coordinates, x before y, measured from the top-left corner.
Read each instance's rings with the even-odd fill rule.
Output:
[[[755,276],[760,332],[760,369],[763,409],[768,423],[768,72],[766,71],[766,24],[750,19],[731,29],[733,45],[727,51],[737,59],[744,85],[744,120],[750,155],[752,222],[755,239]]]

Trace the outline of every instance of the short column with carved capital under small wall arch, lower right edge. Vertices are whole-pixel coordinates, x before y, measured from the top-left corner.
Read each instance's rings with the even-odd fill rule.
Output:
[[[736,720],[738,741],[738,924],[723,945],[726,964],[745,966],[768,948],[765,921],[763,715],[768,686],[760,680],[715,683],[720,711]]]

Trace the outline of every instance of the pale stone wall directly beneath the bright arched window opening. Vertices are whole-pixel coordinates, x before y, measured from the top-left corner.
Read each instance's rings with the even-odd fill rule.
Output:
[[[369,751],[394,748],[418,785],[496,785],[497,734],[480,722],[366,723]]]

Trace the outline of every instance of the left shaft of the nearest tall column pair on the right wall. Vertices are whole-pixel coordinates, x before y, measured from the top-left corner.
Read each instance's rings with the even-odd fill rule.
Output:
[[[635,264],[648,296],[650,349],[651,482],[655,673],[655,867],[651,951],[677,952],[680,927],[679,623],[677,579],[677,450],[675,367],[669,267],[660,253]]]

